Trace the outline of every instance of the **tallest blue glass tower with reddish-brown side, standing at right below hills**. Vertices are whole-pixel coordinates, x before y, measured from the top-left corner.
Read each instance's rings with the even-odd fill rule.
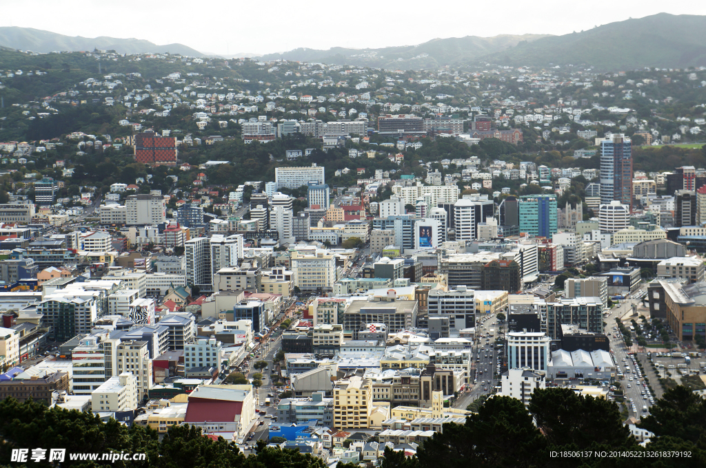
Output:
[[[601,203],[618,200],[633,209],[632,142],[623,134],[601,142]]]

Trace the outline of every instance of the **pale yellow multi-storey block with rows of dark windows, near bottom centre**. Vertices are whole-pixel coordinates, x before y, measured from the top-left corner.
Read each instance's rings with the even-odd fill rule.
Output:
[[[373,389],[369,380],[352,376],[333,386],[333,426],[336,429],[366,429],[373,411]]]

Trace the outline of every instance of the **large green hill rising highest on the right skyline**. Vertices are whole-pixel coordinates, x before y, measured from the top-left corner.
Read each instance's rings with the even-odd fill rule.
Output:
[[[510,66],[587,65],[600,70],[706,65],[706,16],[659,13],[517,44],[482,61]]]

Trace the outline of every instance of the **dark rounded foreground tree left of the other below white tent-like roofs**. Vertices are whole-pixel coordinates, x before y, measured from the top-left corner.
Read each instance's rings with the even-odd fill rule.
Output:
[[[534,427],[525,405],[494,396],[466,424],[448,423],[417,450],[424,468],[538,467],[544,465],[546,441]]]

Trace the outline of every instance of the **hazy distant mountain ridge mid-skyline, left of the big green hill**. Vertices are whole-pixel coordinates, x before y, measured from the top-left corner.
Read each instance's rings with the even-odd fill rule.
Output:
[[[402,70],[438,68],[469,63],[486,54],[498,54],[519,42],[532,42],[546,35],[500,35],[495,37],[450,37],[432,39],[416,46],[384,47],[382,49],[328,50],[299,48],[280,54],[261,56],[263,60],[284,58],[292,61],[336,63],[340,65],[400,68]]]

